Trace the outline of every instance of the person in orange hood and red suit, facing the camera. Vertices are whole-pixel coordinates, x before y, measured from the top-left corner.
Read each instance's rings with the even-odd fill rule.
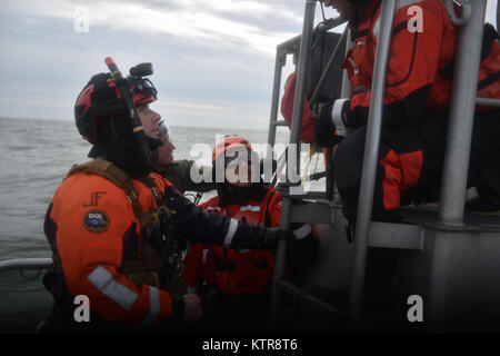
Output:
[[[203,202],[203,210],[249,224],[279,226],[282,196],[262,182],[258,161],[243,137],[233,135],[219,140],[212,152],[218,196]],[[297,241],[291,246],[293,254],[288,254],[292,255],[288,271],[294,275],[313,259],[317,239],[310,224],[293,224],[292,233]],[[273,251],[203,244],[191,246],[183,264],[188,290],[211,304],[207,327],[226,332],[266,328],[273,270]]]

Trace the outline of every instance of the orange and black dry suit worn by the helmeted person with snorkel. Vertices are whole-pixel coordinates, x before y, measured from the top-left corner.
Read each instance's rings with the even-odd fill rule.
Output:
[[[166,256],[156,244],[172,236],[164,230],[160,236],[151,233],[158,226],[153,222],[158,215],[152,212],[159,205],[170,209],[176,233],[193,241],[253,247],[243,240],[262,231],[202,212],[159,175],[130,179],[98,158],[70,171],[47,211],[44,231],[54,270],[44,284],[54,295],[54,310],[68,314],[71,322],[68,308],[74,308],[74,297],[84,295],[93,313],[91,322],[151,326],[181,317],[182,298],[161,288]]]

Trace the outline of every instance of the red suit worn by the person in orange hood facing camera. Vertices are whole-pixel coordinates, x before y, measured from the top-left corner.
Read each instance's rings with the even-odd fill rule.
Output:
[[[219,197],[202,204],[206,211],[216,211],[249,224],[274,227],[280,224],[282,197],[274,188],[264,187],[262,199],[248,199],[244,204],[221,205]],[[292,230],[297,239],[311,238],[309,224]],[[273,278],[274,254],[264,250],[234,250],[216,245],[197,244],[184,258],[183,278],[188,290],[217,288],[226,296],[259,294]]]

